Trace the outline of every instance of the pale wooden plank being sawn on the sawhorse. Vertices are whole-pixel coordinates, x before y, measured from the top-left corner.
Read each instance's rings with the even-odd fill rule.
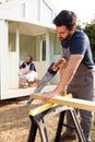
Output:
[[[41,95],[32,94],[32,97],[35,99],[41,99]],[[59,105],[64,105],[69,107],[80,108],[84,110],[95,111],[95,102],[78,99],[78,98],[69,98],[66,96],[56,96],[47,100],[47,103],[54,103]]]

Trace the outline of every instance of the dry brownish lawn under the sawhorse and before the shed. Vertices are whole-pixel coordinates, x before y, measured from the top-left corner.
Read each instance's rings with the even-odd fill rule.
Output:
[[[25,103],[26,100],[16,102],[14,99],[0,102],[0,142],[27,142],[31,126],[28,111],[31,108],[38,106],[39,103],[34,103],[28,108],[25,107]],[[55,138],[57,121],[58,116],[47,123],[50,140]],[[95,142],[95,120],[92,128],[92,140]],[[40,142],[38,132],[36,142]]]

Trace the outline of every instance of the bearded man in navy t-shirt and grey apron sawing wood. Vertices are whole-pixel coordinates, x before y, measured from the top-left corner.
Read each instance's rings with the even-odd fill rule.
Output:
[[[67,93],[72,93],[74,98],[94,100],[95,88],[95,67],[92,58],[90,40],[84,32],[76,31],[76,15],[72,11],[63,10],[54,20],[57,34],[61,40],[63,55],[54,68],[59,67],[62,60],[68,64],[62,71],[59,84],[52,92],[43,95],[46,100],[52,96],[61,95],[67,87]],[[93,125],[93,113],[80,109],[81,127],[86,142],[91,140],[91,128]],[[73,125],[70,114],[67,113],[68,126]],[[74,140],[75,131],[67,128],[60,141]]]

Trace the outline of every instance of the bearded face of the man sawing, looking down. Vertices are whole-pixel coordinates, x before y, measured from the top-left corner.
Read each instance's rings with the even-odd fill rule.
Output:
[[[70,39],[70,37],[72,36],[72,29],[68,29],[67,26],[56,26],[56,31],[58,34],[58,38],[60,40],[67,40]]]

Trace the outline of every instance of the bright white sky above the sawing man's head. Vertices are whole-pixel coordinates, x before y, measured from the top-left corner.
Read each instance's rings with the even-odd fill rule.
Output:
[[[60,10],[72,10],[81,22],[95,17],[95,0],[50,0]]]

